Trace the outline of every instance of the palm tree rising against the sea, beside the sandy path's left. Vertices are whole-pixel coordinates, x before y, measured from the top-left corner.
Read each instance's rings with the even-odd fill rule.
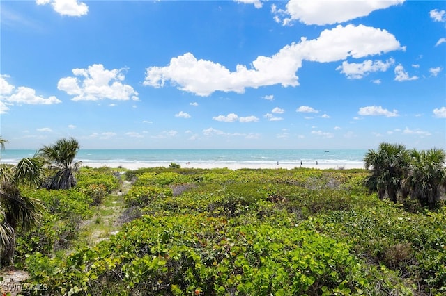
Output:
[[[54,169],[54,175],[44,183],[47,189],[70,189],[76,186],[74,173],[79,168],[80,163],[74,163],[77,151],[79,151],[79,142],[74,138],[61,138],[56,143],[44,146],[39,150],[40,156],[43,156]]]

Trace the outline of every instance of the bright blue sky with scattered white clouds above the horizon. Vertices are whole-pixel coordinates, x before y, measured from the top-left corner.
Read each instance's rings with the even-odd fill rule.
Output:
[[[446,1],[1,1],[7,149],[446,147]]]

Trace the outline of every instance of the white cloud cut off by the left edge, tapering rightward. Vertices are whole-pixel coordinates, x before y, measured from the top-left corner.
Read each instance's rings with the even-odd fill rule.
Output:
[[[52,105],[59,104],[62,101],[54,96],[42,97],[36,95],[36,90],[27,88],[26,86],[19,86],[15,88],[6,81],[8,75],[0,75],[0,114],[6,113],[9,108],[8,105]]]

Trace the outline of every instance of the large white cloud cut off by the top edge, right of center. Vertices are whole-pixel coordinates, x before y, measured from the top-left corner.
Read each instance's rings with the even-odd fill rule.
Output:
[[[374,10],[388,8],[390,6],[403,3],[404,0],[340,0],[340,1],[301,1],[289,0],[286,3],[286,10],[272,8],[276,21],[279,17],[286,15],[282,24],[288,25],[294,20],[303,24],[336,24],[347,22],[357,17],[369,15]]]

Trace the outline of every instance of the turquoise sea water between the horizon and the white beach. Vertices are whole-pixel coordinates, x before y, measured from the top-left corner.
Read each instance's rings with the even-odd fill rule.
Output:
[[[17,163],[24,157],[33,156],[34,150],[3,150],[1,163]],[[202,163],[224,164],[272,164],[299,165],[356,165],[362,166],[367,150],[362,149],[82,149],[76,161],[84,163]]]

